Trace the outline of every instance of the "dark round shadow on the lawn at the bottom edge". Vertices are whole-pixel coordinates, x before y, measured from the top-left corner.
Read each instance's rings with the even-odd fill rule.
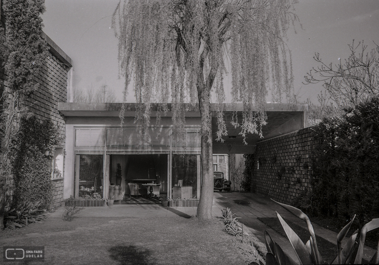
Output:
[[[138,246],[114,246],[109,250],[111,259],[118,261],[120,265],[149,265],[152,253],[148,249]]]

